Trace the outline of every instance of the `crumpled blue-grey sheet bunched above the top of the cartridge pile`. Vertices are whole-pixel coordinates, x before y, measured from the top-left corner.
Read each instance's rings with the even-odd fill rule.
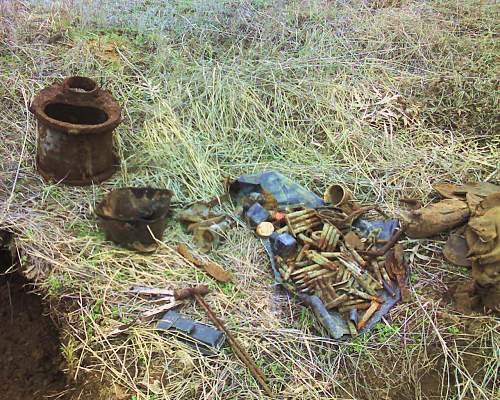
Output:
[[[244,203],[247,196],[259,192],[270,194],[279,207],[303,205],[317,208],[324,205],[321,197],[293,182],[276,171],[265,171],[251,175],[242,175],[229,183],[229,195],[236,203]]]

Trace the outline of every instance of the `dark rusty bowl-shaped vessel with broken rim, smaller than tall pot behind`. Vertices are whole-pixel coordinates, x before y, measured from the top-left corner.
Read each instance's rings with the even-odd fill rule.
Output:
[[[168,189],[123,188],[111,191],[96,207],[106,240],[148,253],[156,250],[170,212]]]

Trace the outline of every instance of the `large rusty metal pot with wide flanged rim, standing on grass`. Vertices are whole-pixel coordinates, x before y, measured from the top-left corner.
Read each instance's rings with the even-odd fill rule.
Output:
[[[30,111],[38,120],[36,161],[45,180],[84,186],[113,175],[113,130],[121,108],[108,91],[72,76],[41,90]]]

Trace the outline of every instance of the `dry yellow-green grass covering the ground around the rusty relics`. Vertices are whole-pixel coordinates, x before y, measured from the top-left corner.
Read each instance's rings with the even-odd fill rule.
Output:
[[[318,193],[345,184],[393,214],[399,197],[431,200],[438,181],[498,181],[493,1],[33,3],[0,5],[0,228],[15,229],[37,287],[73,302],[75,311],[53,312],[72,340],[64,353],[76,376],[90,369],[136,399],[262,398],[229,351],[209,360],[144,324],[108,336],[148,308],[124,294],[128,286],[208,283],[207,301],[281,398],[495,397],[496,322],[458,313],[460,323],[442,321],[447,277],[468,271],[441,262],[441,244],[406,240],[414,300],[389,325],[336,343],[272,287],[246,228],[210,255],[238,280],[218,285],[175,252],[191,241],[176,221],[145,257],[104,242],[93,215],[115,187],[209,200],[227,177],[264,169]],[[47,44],[56,33],[62,39]],[[27,105],[71,74],[93,77],[123,107],[121,169],[99,186],[45,184],[34,168]],[[208,322],[192,303],[181,312]],[[181,366],[180,351],[194,368]],[[471,354],[482,360],[474,371]],[[422,380],[428,373],[436,387]]]

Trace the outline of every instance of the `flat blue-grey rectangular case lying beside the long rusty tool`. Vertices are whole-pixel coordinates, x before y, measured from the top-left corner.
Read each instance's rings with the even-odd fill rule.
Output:
[[[224,345],[226,335],[213,326],[193,321],[176,311],[167,312],[157,329],[175,332],[178,339],[206,356],[215,355]]]

